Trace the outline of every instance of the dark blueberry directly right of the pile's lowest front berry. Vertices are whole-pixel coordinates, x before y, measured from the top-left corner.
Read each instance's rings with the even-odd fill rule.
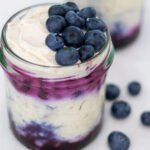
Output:
[[[95,50],[91,45],[83,45],[79,49],[80,60],[85,62],[94,56]]]

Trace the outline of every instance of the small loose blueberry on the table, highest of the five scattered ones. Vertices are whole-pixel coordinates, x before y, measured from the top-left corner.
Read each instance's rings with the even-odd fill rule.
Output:
[[[141,85],[137,81],[133,81],[128,85],[128,92],[132,96],[136,96],[140,93],[141,91]]]

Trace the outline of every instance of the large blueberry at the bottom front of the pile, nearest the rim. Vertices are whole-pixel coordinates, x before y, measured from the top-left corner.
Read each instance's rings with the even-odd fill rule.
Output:
[[[61,66],[71,66],[78,62],[79,52],[71,47],[67,49],[61,49],[56,53],[56,61]]]

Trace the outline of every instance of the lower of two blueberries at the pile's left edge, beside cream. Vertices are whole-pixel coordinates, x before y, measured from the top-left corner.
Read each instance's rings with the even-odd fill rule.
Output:
[[[64,40],[61,36],[57,34],[49,34],[46,38],[46,45],[50,49],[57,51],[64,47]]]

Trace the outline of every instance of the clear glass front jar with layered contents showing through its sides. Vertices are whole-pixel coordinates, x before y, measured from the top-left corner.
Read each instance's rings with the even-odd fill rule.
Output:
[[[102,126],[105,78],[114,49],[106,33],[101,52],[85,63],[56,67],[22,59],[7,43],[7,24],[40,6],[16,13],[2,31],[0,60],[11,129],[20,142],[34,150],[80,149]]]

